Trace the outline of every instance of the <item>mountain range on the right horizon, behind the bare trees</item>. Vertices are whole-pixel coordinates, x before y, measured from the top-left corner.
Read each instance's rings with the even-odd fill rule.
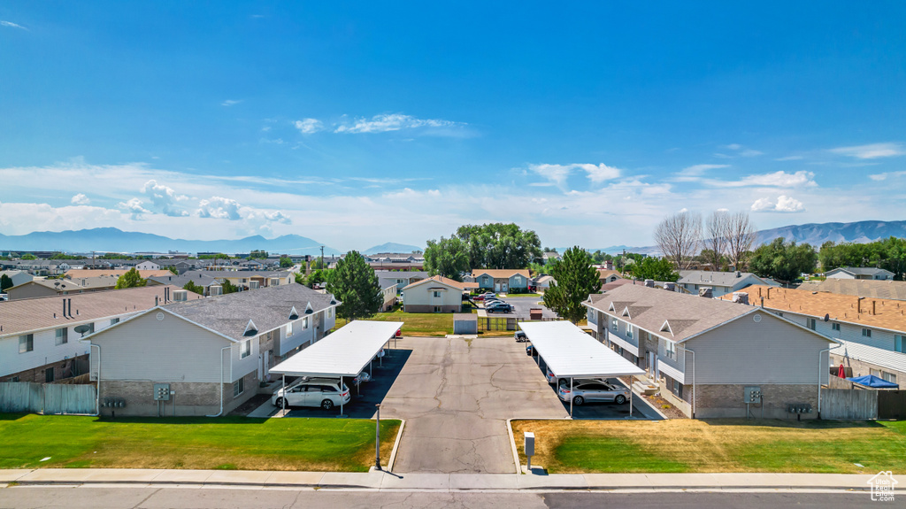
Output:
[[[807,225],[781,226],[758,231],[755,245],[762,245],[779,237],[784,237],[786,240],[795,239],[797,244],[807,243],[820,247],[827,241],[864,244],[891,236],[906,237],[906,221],[856,221],[853,223],[809,223]],[[660,249],[656,245],[644,247],[612,245],[601,251],[617,255],[622,253],[623,249],[627,253],[660,255]],[[596,249],[590,249],[590,251],[596,251]]]

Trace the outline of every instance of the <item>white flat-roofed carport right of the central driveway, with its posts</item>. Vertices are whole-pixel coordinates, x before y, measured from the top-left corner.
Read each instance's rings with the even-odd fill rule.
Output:
[[[570,322],[519,322],[528,341],[557,379],[606,379],[645,373],[622,355],[607,348]],[[573,416],[573,399],[569,402]],[[632,387],[629,388],[629,415],[632,416]]]

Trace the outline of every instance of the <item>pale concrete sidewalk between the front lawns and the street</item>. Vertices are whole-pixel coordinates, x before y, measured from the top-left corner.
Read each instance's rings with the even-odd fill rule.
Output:
[[[318,487],[371,490],[658,490],[811,489],[867,490],[872,475],[849,474],[392,474],[385,472],[266,472],[40,468],[0,470],[0,485],[178,485]]]

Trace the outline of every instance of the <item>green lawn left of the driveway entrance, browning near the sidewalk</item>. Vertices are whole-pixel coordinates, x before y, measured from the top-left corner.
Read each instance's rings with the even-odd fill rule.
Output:
[[[399,420],[381,420],[390,458]],[[0,414],[0,468],[367,471],[374,421],[350,418],[92,418]],[[44,457],[50,457],[41,461]]]

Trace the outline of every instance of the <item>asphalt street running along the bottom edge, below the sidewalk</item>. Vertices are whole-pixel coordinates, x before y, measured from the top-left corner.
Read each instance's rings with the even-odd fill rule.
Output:
[[[14,486],[0,489],[0,507],[17,509],[159,508],[374,508],[374,507],[664,507],[760,509],[793,506],[849,509],[869,506],[867,493],[466,493],[295,489]],[[880,504],[880,503],[879,503]],[[879,506],[902,506],[880,504]]]

